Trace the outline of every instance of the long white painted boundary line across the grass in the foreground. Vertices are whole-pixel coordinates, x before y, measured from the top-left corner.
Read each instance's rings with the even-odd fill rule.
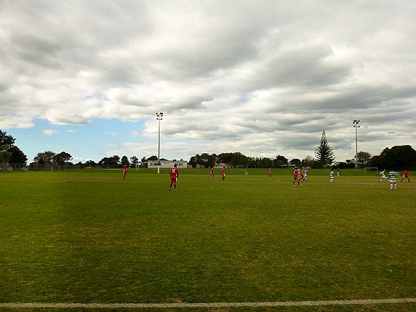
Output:
[[[286,302],[196,302],[196,303],[40,303],[40,302],[0,302],[0,308],[11,309],[175,309],[175,308],[234,308],[234,307],[267,307],[267,306],[329,306],[351,304],[401,304],[416,303],[416,298],[399,299],[357,299],[328,301],[286,301]]]

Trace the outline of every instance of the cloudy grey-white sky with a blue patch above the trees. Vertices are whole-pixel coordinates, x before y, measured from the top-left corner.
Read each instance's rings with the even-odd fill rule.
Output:
[[[0,129],[73,162],[416,148],[416,1],[0,1]]]

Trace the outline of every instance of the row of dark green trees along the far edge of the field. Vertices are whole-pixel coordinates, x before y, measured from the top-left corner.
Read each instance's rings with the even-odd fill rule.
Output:
[[[22,164],[26,165],[28,158],[15,145],[16,139],[6,132],[0,130],[0,164],[3,170],[6,170],[7,164]],[[101,168],[117,168],[121,166],[145,166],[148,161],[157,161],[157,156],[139,158],[132,156],[119,157],[114,155],[112,157],[103,157],[98,163],[93,160],[87,162],[78,162],[73,164],[71,160],[73,157],[62,151],[61,153],[54,153],[51,150],[37,153],[33,162],[29,166],[69,166],[76,165],[79,168],[86,167],[101,167]],[[160,159],[167,160],[167,159]],[[181,159],[183,160],[183,159]],[[209,154],[202,153],[193,155],[189,159],[189,165],[193,168],[216,166],[216,164],[230,164],[233,167],[245,168],[279,168],[292,164],[298,167],[309,168],[323,168],[327,166],[338,166],[338,168],[354,168],[358,164],[359,168],[365,166],[373,166],[378,168],[416,168],[416,150],[410,145],[393,146],[392,148],[385,148],[380,155],[370,155],[370,153],[360,151],[352,159],[347,159],[345,162],[335,162],[335,155],[329,147],[325,131],[322,131],[320,144],[315,149],[315,155],[312,157],[308,155],[303,159],[288,160],[283,155],[276,157],[249,157],[240,152],[234,153],[220,153]]]

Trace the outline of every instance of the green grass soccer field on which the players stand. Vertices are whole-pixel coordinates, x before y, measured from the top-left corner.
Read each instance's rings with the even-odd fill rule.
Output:
[[[129,171],[125,181],[121,170],[0,173],[0,310],[416,298],[416,182],[390,191],[374,172],[341,171],[329,183],[329,171],[310,170],[292,187],[291,171],[228,169],[225,182],[216,173],[182,170],[177,191],[166,169]],[[162,310],[277,309],[416,303]]]

